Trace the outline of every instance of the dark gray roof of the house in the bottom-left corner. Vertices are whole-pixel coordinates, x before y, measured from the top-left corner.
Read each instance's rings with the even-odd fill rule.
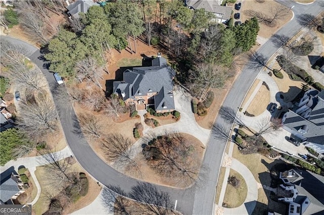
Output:
[[[8,201],[20,191],[17,182],[11,177],[12,173],[12,168],[10,168],[0,175],[0,200],[3,202]]]

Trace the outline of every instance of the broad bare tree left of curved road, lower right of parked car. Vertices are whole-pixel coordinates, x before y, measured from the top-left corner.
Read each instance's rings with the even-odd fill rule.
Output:
[[[38,98],[36,102],[21,101],[19,113],[19,126],[31,138],[37,139],[57,129],[57,112],[48,97]]]

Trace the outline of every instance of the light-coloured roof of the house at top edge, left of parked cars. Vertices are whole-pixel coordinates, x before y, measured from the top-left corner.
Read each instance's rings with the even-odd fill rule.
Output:
[[[223,14],[222,19],[230,19],[232,8],[220,6],[222,4],[222,0],[188,0],[186,5],[192,7],[193,9],[201,9],[204,8],[207,12]],[[220,18],[220,17],[219,17]]]

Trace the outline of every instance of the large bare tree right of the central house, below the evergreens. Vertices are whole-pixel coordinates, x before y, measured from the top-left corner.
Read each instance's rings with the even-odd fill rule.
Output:
[[[188,88],[191,94],[201,101],[205,99],[207,93],[212,88],[223,87],[227,75],[217,65],[202,63],[195,66],[194,70],[189,71],[189,78],[190,83],[188,84]]]

